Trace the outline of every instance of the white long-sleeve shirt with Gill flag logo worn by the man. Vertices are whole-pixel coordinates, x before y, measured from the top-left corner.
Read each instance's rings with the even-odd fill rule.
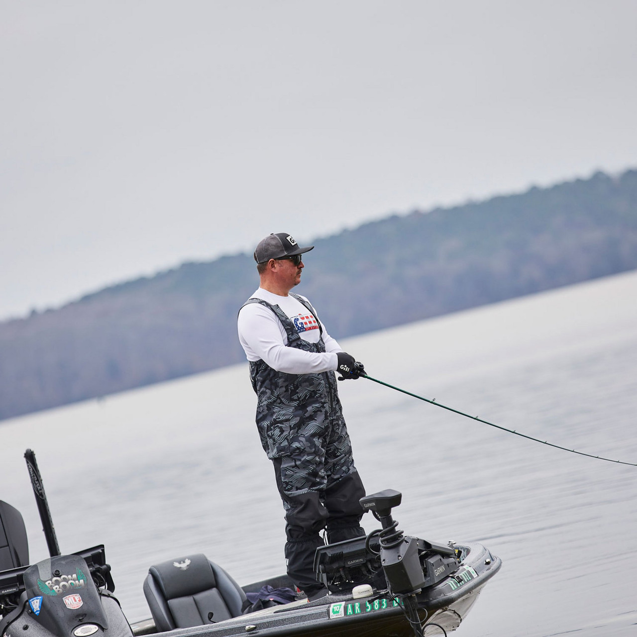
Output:
[[[290,318],[303,340],[310,343],[318,342],[320,329],[303,303],[299,303],[293,296],[278,296],[262,288],[257,289],[252,295],[252,298],[254,297],[278,305]],[[261,303],[243,306],[237,321],[239,340],[248,361],[262,359],[276,371],[288,374],[314,374],[336,370],[336,352],[341,352],[341,347],[327,333],[322,323],[320,326],[323,330],[325,353],[305,352],[296,347],[287,347],[287,334],[281,321],[272,310]]]

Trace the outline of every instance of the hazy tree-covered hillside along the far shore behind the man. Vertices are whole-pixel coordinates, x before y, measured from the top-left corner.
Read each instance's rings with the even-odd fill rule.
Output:
[[[292,234],[302,228],[278,228]],[[637,268],[637,171],[414,211],[314,241],[298,292],[335,338]],[[0,324],[0,419],[244,360],[252,255]]]

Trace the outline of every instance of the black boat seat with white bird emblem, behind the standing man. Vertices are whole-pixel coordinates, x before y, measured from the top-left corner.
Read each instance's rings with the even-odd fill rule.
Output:
[[[151,566],[144,595],[159,632],[238,617],[246,599],[240,585],[202,553]]]

